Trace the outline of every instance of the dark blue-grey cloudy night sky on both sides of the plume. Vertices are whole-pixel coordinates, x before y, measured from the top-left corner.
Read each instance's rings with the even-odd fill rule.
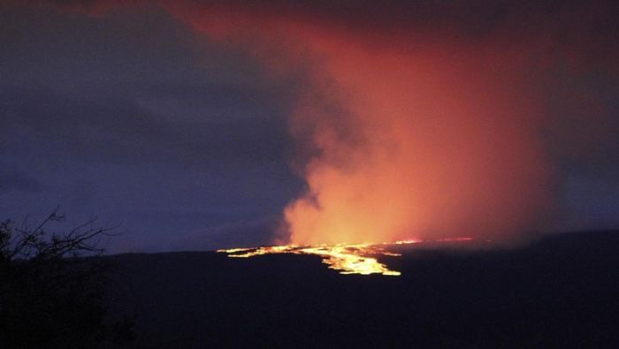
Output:
[[[600,96],[607,133],[548,137],[562,180],[546,230],[617,227],[616,71],[558,74]],[[269,243],[303,187],[287,133],[302,79],[289,75],[267,78],[246,51],[157,6],[96,16],[0,6],[0,218],[37,219],[58,205],[66,224],[95,214],[121,224],[112,253]],[[561,91],[555,98],[566,123],[582,113]],[[562,154],[579,141],[595,144]]]

